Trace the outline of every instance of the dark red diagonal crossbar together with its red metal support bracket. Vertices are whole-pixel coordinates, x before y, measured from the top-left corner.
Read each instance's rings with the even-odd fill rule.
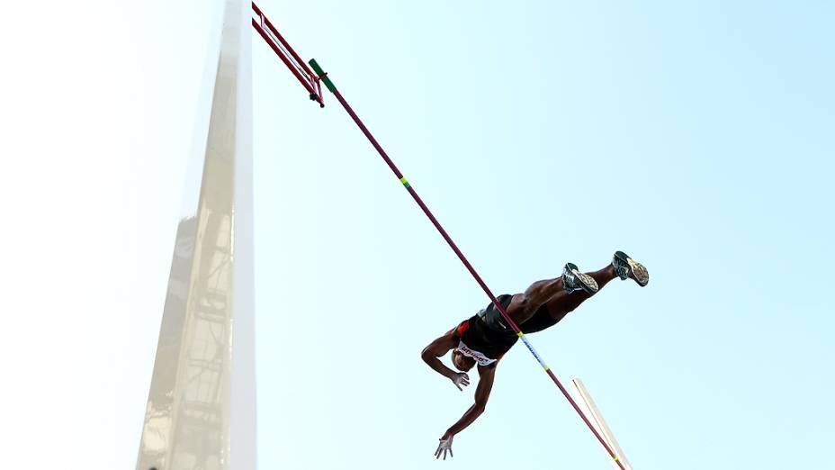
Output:
[[[262,19],[265,20],[264,14],[261,12],[260,9],[258,9],[258,7],[255,4],[253,4],[253,9],[256,11],[258,16],[260,16]],[[269,27],[272,28],[272,23],[269,23],[268,20],[266,20],[265,23],[268,24]],[[256,30],[258,30],[258,32],[263,31],[261,28],[259,28],[259,25],[256,24],[255,19],[253,19],[253,26],[256,27]],[[290,52],[290,55],[294,59],[298,58],[298,55],[296,55],[295,51],[292,50],[290,45],[287,44],[286,41],[283,40],[283,38],[281,38],[281,35],[278,34],[278,32],[275,32],[275,31],[274,31],[274,33],[278,38],[280,38],[280,41],[282,42],[282,45],[284,46],[284,48],[286,48],[286,50],[288,50],[288,52]],[[263,32],[262,32],[261,35],[262,35],[262,37],[264,37],[264,39],[266,41],[270,42],[267,35],[265,35]],[[302,85],[304,85],[305,89],[307,89],[308,92],[310,93],[310,99],[314,100],[314,101],[317,101],[320,105],[324,106],[323,101],[322,101],[322,97],[321,97],[321,91],[320,91],[321,88],[320,87],[317,88],[317,90],[319,90],[319,94],[313,93],[311,91],[312,86],[310,86],[307,83],[307,80],[302,79],[301,77],[299,77],[299,71],[300,71],[299,66],[298,65],[291,65],[289,63],[290,61],[289,61],[289,58],[287,57],[287,55],[283,55],[283,53],[280,50],[278,50],[278,48],[272,42],[270,42],[270,47],[279,55],[279,57],[282,59],[284,64],[287,65],[288,68],[291,68],[291,71],[293,72],[293,74],[296,75],[296,77],[300,79],[300,81],[302,82]],[[400,170],[398,169],[398,167],[396,165],[394,165],[394,162],[391,161],[391,158],[389,158],[388,154],[386,154],[386,151],[384,149],[382,149],[382,146],[380,145],[380,143],[376,139],[374,139],[374,136],[372,135],[371,131],[369,131],[368,128],[365,127],[365,124],[363,123],[362,120],[360,120],[359,116],[356,115],[356,113],[354,112],[354,109],[351,108],[351,106],[346,102],[346,100],[342,96],[342,94],[339,93],[339,90],[337,90],[337,87],[334,86],[334,83],[328,77],[328,74],[321,67],[319,67],[319,63],[316,61],[316,59],[310,59],[309,64],[310,64],[310,67],[313,68],[313,71],[316,73],[316,75],[314,76],[315,82],[317,84],[319,84],[319,82],[323,82],[325,84],[325,86],[328,87],[328,91],[330,91],[330,93],[332,93],[334,96],[337,97],[337,101],[339,101],[339,104],[342,104],[342,107],[345,108],[348,115],[351,116],[351,119],[353,119],[354,122],[356,123],[357,127],[360,128],[360,131],[363,131],[363,133],[365,134],[365,137],[371,142],[374,149],[377,150],[377,153],[379,153],[380,156],[382,157],[382,159],[386,162],[386,165],[388,165],[391,168],[391,171],[394,173],[394,175],[397,176],[398,179],[400,179],[400,183],[402,183],[403,186],[406,188],[406,190],[409,191],[409,194],[411,194],[412,198],[415,200],[417,205],[420,206],[420,209],[423,210],[424,213],[426,213],[426,217],[429,218],[429,221],[432,221],[432,224],[435,225],[435,229],[437,229],[438,232],[441,233],[441,236],[444,237],[444,240],[446,240],[446,242],[449,244],[450,248],[453,249],[453,251],[458,256],[458,258],[461,259],[461,262],[463,263],[463,265],[465,267],[467,267],[467,270],[470,271],[470,274],[472,275],[472,277],[475,278],[477,283],[479,283],[479,285],[481,286],[481,289],[484,290],[484,293],[487,294],[490,301],[494,305],[496,305],[496,308],[498,309],[498,312],[501,312],[502,317],[504,317],[505,321],[507,321],[507,323],[510,325],[510,327],[514,331],[516,331],[516,335],[518,335],[519,339],[522,339],[522,342],[525,343],[525,346],[528,348],[529,351],[531,351],[531,354],[534,355],[534,357],[539,362],[539,364],[541,366],[543,366],[543,369],[545,370],[545,373],[547,373],[548,376],[551,377],[551,380],[553,381],[553,383],[557,385],[557,387],[560,389],[560,392],[570,402],[571,407],[574,408],[574,411],[577,411],[577,414],[579,414],[579,417],[582,418],[583,422],[586,423],[586,426],[588,426],[588,429],[591,430],[592,433],[594,433],[595,437],[597,438],[597,441],[600,442],[600,445],[603,446],[603,447],[606,447],[606,452],[608,453],[608,455],[610,457],[612,457],[613,461],[617,464],[618,467],[621,468],[621,470],[626,470],[626,467],[624,467],[623,463],[620,460],[618,460],[617,454],[615,454],[615,451],[612,449],[612,447],[609,447],[609,445],[606,444],[606,440],[600,435],[599,432],[597,432],[597,429],[595,429],[595,427],[594,427],[594,425],[592,425],[591,421],[588,420],[585,413],[583,413],[583,411],[580,410],[579,405],[577,404],[577,402],[575,402],[574,399],[571,398],[571,395],[568,392],[568,390],[566,390],[566,388],[564,386],[562,386],[562,384],[560,382],[560,379],[558,379],[557,376],[553,374],[553,371],[551,370],[551,367],[549,367],[548,365],[545,364],[545,362],[543,361],[543,358],[539,356],[539,354],[536,352],[536,349],[534,349],[534,346],[525,337],[525,333],[523,333],[522,330],[520,330],[519,327],[516,325],[516,323],[513,320],[510,319],[510,316],[507,315],[507,312],[505,311],[505,308],[502,307],[501,303],[498,302],[498,299],[496,298],[496,296],[492,293],[492,291],[490,291],[489,287],[487,286],[487,284],[484,283],[484,280],[481,279],[481,276],[479,276],[479,273],[476,272],[475,268],[472,267],[472,265],[470,264],[470,261],[468,261],[467,258],[463,255],[463,253],[461,252],[461,249],[458,249],[458,246],[455,245],[455,242],[449,236],[449,234],[446,232],[446,230],[444,230],[444,227],[441,226],[441,223],[439,221],[437,221],[437,219],[435,219],[435,215],[433,215],[432,212],[429,211],[429,208],[426,207],[426,203],[424,203],[423,200],[420,199],[420,196],[417,195],[417,192],[415,191],[415,188],[413,188],[412,185],[409,184],[409,181],[406,179],[405,176],[403,176],[402,173],[400,173]],[[303,64],[302,64],[302,67],[303,67]],[[306,67],[303,67],[303,68],[306,69]]]

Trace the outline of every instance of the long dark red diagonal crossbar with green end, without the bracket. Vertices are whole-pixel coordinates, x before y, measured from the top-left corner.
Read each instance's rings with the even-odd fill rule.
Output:
[[[345,108],[348,115],[351,116],[351,119],[353,119],[357,127],[360,128],[360,131],[363,131],[365,137],[371,142],[374,149],[377,150],[377,153],[379,153],[382,159],[386,162],[386,165],[388,165],[391,168],[391,171],[394,173],[394,175],[397,176],[398,179],[400,179],[400,183],[402,183],[403,186],[406,187],[406,190],[409,191],[409,194],[411,194],[412,198],[415,200],[417,205],[420,206],[420,209],[423,210],[424,213],[426,213],[426,217],[429,218],[429,221],[432,221],[432,224],[435,225],[435,229],[437,229],[441,233],[441,236],[444,237],[444,240],[446,240],[450,248],[453,249],[456,255],[458,255],[458,258],[461,259],[461,262],[464,264],[465,267],[467,267],[467,270],[470,271],[472,277],[475,278],[476,282],[479,283],[479,285],[481,286],[481,289],[483,289],[487,296],[490,298],[490,301],[494,305],[496,305],[498,312],[501,312],[501,315],[505,318],[505,321],[507,321],[510,327],[514,331],[516,331],[516,335],[519,336],[519,339],[522,339],[522,342],[525,343],[525,346],[528,348],[528,350],[531,351],[531,354],[533,354],[536,360],[539,361],[539,364],[543,366],[545,373],[547,373],[548,376],[551,377],[553,383],[557,385],[557,387],[560,389],[560,392],[571,403],[571,406],[574,408],[574,411],[577,411],[577,414],[579,414],[579,417],[582,418],[583,422],[586,423],[588,429],[590,429],[591,432],[594,433],[595,437],[600,442],[600,445],[606,447],[606,452],[609,454],[610,457],[612,457],[613,461],[617,464],[618,467],[621,468],[621,470],[626,470],[623,463],[620,460],[618,460],[617,454],[615,454],[615,451],[612,450],[612,447],[609,447],[609,445],[606,444],[606,440],[600,435],[599,432],[597,432],[597,429],[595,429],[595,427],[591,424],[591,422],[586,417],[585,413],[583,413],[583,411],[580,410],[577,402],[575,402],[574,399],[571,398],[571,395],[568,392],[568,390],[566,390],[566,388],[562,386],[560,379],[558,379],[557,376],[553,374],[551,367],[547,366],[543,361],[542,357],[540,357],[539,354],[536,353],[534,346],[531,345],[530,341],[528,341],[525,337],[525,333],[523,333],[522,330],[520,330],[519,327],[516,325],[516,323],[510,319],[510,316],[507,315],[505,308],[502,307],[501,303],[498,302],[498,299],[495,295],[493,295],[489,287],[481,279],[479,273],[476,272],[474,267],[472,267],[470,261],[468,261],[467,258],[464,257],[463,253],[461,252],[461,249],[458,249],[458,246],[455,245],[453,239],[449,236],[448,233],[446,233],[446,230],[444,230],[444,227],[441,226],[441,223],[437,221],[437,219],[435,219],[435,215],[433,215],[432,212],[429,211],[429,208],[426,207],[426,204],[423,202],[422,199],[420,199],[420,196],[417,195],[415,188],[413,188],[412,185],[409,184],[409,181],[407,181],[406,177],[403,176],[402,173],[400,173],[400,170],[397,166],[394,165],[394,162],[391,161],[391,158],[389,158],[389,156],[386,154],[386,151],[382,149],[380,143],[377,142],[376,139],[374,139],[374,136],[372,135],[371,131],[368,131],[368,128],[365,127],[365,124],[356,115],[354,109],[351,108],[351,106],[346,102],[342,94],[339,93],[339,90],[337,90],[337,87],[334,86],[333,81],[331,81],[331,79],[327,76],[328,74],[326,74],[325,71],[322,70],[321,67],[319,67],[319,63],[316,62],[316,59],[310,59],[310,67],[313,68],[313,71],[316,72],[319,79],[325,83],[325,86],[328,87],[328,90],[330,90],[330,92],[337,97],[339,104],[342,104],[342,107]]]

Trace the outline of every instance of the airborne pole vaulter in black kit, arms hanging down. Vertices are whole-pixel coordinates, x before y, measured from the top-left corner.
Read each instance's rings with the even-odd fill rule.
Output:
[[[616,251],[612,263],[594,273],[583,274],[579,268],[568,263],[562,276],[535,282],[523,294],[499,295],[497,300],[504,307],[507,315],[525,334],[545,330],[561,321],[565,315],[576,309],[580,303],[597,293],[615,277],[622,280],[632,278],[642,287],[650,281],[646,267],[623,251]],[[475,404],[464,412],[450,429],[446,429],[440,440],[435,458],[446,452],[453,456],[453,437],[484,412],[496,365],[510,348],[516,344],[518,335],[507,325],[501,312],[493,303],[462,321],[457,327],[447,331],[444,336],[435,339],[424,348],[421,357],[435,371],[450,379],[458,390],[470,384],[467,371],[478,364],[479,384],[475,389]],[[453,366],[461,372],[455,372],[438,357],[453,351]]]

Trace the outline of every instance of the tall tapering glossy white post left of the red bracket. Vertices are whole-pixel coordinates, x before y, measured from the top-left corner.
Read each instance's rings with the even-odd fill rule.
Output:
[[[195,202],[176,234],[137,470],[256,468],[252,7],[224,3],[205,153],[187,182],[199,196],[186,194]]]

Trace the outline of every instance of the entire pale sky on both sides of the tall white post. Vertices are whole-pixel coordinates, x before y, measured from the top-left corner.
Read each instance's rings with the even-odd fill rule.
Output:
[[[219,11],[0,17],[4,459],[135,465]],[[835,6],[263,0],[497,293],[615,282],[534,346],[636,469],[831,468]],[[525,348],[487,412],[421,348],[488,302],[332,98],[254,36],[262,468],[607,468]]]

